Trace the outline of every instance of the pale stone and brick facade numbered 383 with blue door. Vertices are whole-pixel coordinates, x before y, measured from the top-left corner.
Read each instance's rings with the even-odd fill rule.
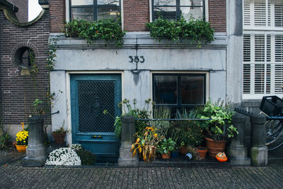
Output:
[[[50,1],[50,39],[57,39],[50,85],[51,91],[62,91],[52,110],[60,112],[52,116],[52,130],[64,124],[71,130],[67,142],[81,143],[98,157],[115,159],[119,144],[113,120],[103,110],[121,114],[117,103],[122,99],[136,99],[138,107],[149,98],[173,108],[219,98],[241,103],[243,30],[236,18],[242,18],[241,7],[241,1],[224,0]],[[96,20],[119,12],[126,31],[120,49],[112,44],[105,47],[101,41],[87,44],[84,39],[62,36],[62,20]],[[158,15],[187,20],[201,16],[212,23],[215,40],[202,47],[156,42],[145,23]]]

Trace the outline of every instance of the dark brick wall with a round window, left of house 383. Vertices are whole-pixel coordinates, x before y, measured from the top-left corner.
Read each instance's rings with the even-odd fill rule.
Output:
[[[18,124],[27,121],[33,113],[35,87],[30,75],[21,74],[22,68],[16,66],[16,50],[30,47],[35,52],[39,68],[37,74],[38,98],[45,100],[49,86],[47,63],[48,37],[50,35],[50,14],[45,15],[30,26],[11,23],[0,10],[0,110],[4,124]],[[50,109],[50,107],[49,107]]]

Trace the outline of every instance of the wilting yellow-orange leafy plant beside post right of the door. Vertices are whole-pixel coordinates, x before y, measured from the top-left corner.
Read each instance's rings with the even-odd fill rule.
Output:
[[[158,148],[158,143],[163,140],[163,136],[156,133],[156,128],[146,127],[142,135],[136,133],[137,140],[132,144],[131,151],[132,156],[139,152],[142,155],[144,161],[151,161],[156,158],[156,150]]]

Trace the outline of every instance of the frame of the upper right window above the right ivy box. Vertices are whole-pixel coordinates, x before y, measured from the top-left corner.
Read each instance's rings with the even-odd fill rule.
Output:
[[[150,7],[150,11],[151,11],[151,18],[150,18],[150,21],[153,22],[154,21],[154,8],[156,6],[154,6],[154,1],[155,0],[150,0],[151,3],[151,7]],[[202,0],[202,6],[180,6],[180,0],[175,0],[176,1],[176,5],[175,6],[161,6],[161,7],[175,7],[176,8],[176,18],[175,20],[178,20],[180,19],[180,8],[181,7],[202,7],[202,18],[203,20],[208,20],[208,14],[207,14],[207,11],[208,11],[208,1],[207,0]]]

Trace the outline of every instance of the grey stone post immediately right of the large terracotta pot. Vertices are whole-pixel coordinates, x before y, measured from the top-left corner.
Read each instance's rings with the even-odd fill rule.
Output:
[[[237,128],[238,135],[234,135],[231,140],[229,148],[231,157],[231,166],[250,166],[250,158],[248,158],[248,150],[244,147],[245,140],[245,121],[239,114],[235,114],[232,117],[233,126]]]

